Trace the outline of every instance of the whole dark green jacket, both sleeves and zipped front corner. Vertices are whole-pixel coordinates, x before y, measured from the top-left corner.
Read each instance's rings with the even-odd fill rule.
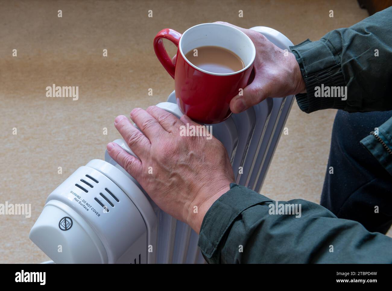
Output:
[[[392,110],[392,7],[291,50],[307,87],[296,96],[301,110]],[[321,84],[347,86],[347,96],[316,97]],[[392,175],[392,118],[375,128],[361,143]],[[280,207],[301,215],[274,214]],[[392,238],[318,204],[276,202],[236,184],[205,215],[199,246],[209,263],[392,263]]]

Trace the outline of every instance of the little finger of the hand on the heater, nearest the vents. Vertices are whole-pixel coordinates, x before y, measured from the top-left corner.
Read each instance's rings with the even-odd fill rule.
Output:
[[[109,143],[106,148],[107,153],[111,156],[111,158],[122,166],[129,175],[134,177],[136,180],[140,177],[140,174],[142,173],[142,162],[138,158],[128,154],[116,143]]]

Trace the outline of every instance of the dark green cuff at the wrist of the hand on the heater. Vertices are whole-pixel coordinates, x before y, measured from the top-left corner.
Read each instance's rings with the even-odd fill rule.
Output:
[[[218,246],[224,243],[225,234],[242,211],[264,202],[272,200],[249,188],[230,184],[230,190],[212,204],[201,224],[198,246],[208,263],[220,262]]]

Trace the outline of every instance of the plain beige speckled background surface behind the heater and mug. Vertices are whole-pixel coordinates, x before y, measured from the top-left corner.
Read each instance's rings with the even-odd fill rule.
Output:
[[[0,203],[29,203],[32,215],[0,215],[0,262],[47,260],[28,239],[47,195],[79,166],[103,159],[105,145],[120,137],[117,115],[165,101],[172,92],[174,81],[152,48],[158,31],[222,20],[273,27],[299,43],[365,17],[355,0],[1,1]],[[174,54],[174,46],[167,47]],[[79,100],[47,98],[45,88],[53,83],[79,86]],[[307,115],[293,105],[289,135],[281,137],[261,193],[319,202],[335,113]]]

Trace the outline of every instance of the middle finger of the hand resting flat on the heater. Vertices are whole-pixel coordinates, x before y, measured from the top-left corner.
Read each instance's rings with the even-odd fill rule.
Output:
[[[158,120],[141,108],[132,110],[131,118],[150,141],[159,137],[164,131]]]

